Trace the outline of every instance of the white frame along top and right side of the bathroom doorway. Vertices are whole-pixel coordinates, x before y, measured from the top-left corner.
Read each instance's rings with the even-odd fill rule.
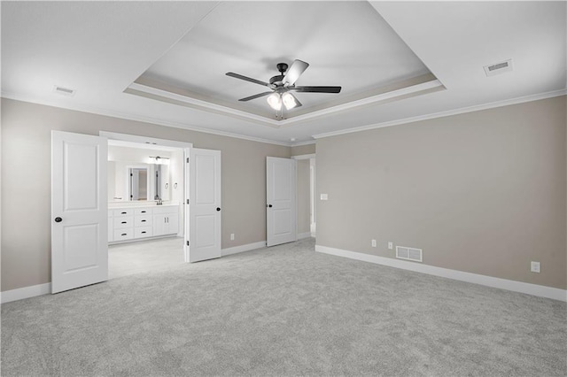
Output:
[[[107,132],[107,131],[99,131],[99,136],[104,136],[108,140],[118,140],[121,142],[135,142],[137,144],[150,144],[150,145],[162,145],[164,147],[171,147],[171,148],[178,148],[183,150],[183,158],[185,157],[186,150],[193,148],[192,142],[178,142],[175,140],[168,140],[168,139],[158,139],[155,137],[146,137],[140,135],[130,135],[130,134],[120,134],[116,132]],[[187,182],[190,179],[190,172],[189,172],[189,164],[185,164],[183,161],[183,184],[185,187],[183,188],[183,224],[181,227],[184,229],[184,242],[183,242],[183,260],[189,263],[189,245],[187,244],[187,239],[189,234],[187,233],[187,229],[189,229],[189,196],[187,190]]]

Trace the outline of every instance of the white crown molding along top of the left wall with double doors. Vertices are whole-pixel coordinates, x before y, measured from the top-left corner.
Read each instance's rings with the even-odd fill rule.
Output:
[[[207,129],[207,128],[203,128],[203,127],[190,126],[190,125],[177,123],[177,122],[171,122],[171,121],[162,120],[162,119],[156,119],[156,118],[151,118],[151,117],[129,114],[129,113],[126,113],[126,112],[115,112],[115,111],[101,109],[101,108],[97,108],[95,106],[89,106],[89,105],[85,105],[85,104],[61,104],[61,103],[56,102],[56,101],[45,101],[43,99],[31,98],[29,96],[22,96],[22,95],[19,95],[19,94],[9,93],[9,92],[4,92],[4,91],[1,93],[0,96],[2,96],[3,98],[7,98],[7,99],[13,99],[15,101],[27,102],[27,103],[30,103],[30,104],[43,104],[44,106],[57,107],[57,108],[60,108],[60,109],[72,110],[72,111],[75,111],[75,112],[88,112],[90,114],[103,115],[103,116],[106,116],[106,117],[113,117],[113,118],[118,118],[118,119],[126,119],[126,120],[134,120],[134,121],[144,122],[144,123],[151,123],[151,124],[155,124],[155,125],[158,125],[158,126],[181,128],[181,129],[186,129],[186,130],[189,130],[189,131],[200,132],[200,133],[203,133],[203,134],[227,136],[227,137],[232,137],[234,139],[247,140],[249,142],[263,142],[263,143],[267,143],[267,144],[281,145],[283,147],[292,147],[292,146],[295,146],[295,145],[299,145],[299,144],[292,144],[291,142],[276,142],[274,140],[262,139],[260,137],[254,137],[254,136],[237,135],[237,134],[232,134],[232,133],[224,132],[224,131],[211,130],[211,129]]]

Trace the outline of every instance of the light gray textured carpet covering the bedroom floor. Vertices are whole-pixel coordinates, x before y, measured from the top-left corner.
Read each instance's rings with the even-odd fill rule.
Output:
[[[564,303],[312,240],[2,305],[2,375],[564,376]]]

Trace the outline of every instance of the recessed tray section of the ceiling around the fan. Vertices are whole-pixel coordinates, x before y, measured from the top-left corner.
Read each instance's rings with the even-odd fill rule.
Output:
[[[266,96],[238,101],[269,88],[225,73],[269,81],[279,74],[277,63],[291,65],[294,59],[310,64],[296,85],[341,86],[342,90],[339,94],[294,93],[302,106],[284,110],[284,119],[325,114],[326,109],[341,105],[344,109],[427,82],[440,87],[367,2],[228,2],[200,19],[127,92],[246,118],[245,112],[252,115],[248,118],[263,117],[275,126],[269,120],[282,119],[276,119]],[[431,85],[411,92],[425,89],[429,91]]]

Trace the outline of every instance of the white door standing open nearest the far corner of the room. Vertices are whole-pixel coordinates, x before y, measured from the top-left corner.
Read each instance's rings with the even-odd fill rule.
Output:
[[[266,160],[268,204],[266,244],[268,246],[297,241],[295,179],[296,161],[290,158]]]

